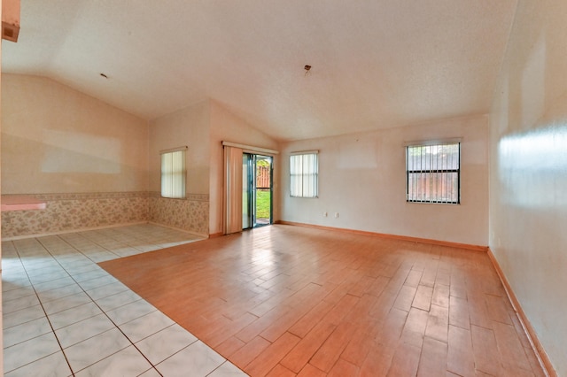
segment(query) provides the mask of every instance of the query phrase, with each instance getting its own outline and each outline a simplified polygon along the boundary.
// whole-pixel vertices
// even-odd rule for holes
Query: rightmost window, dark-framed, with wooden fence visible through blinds
[[[460,155],[460,142],[407,146],[407,201],[459,204]]]

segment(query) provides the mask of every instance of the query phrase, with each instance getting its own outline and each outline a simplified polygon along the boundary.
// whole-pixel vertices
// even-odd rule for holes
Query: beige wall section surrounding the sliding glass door
[[[243,119],[239,119],[221,104],[211,101],[211,140],[210,140],[210,218],[209,233],[218,234],[222,231],[222,142],[237,142],[254,147],[278,150],[278,143],[264,134],[260,129],[252,127]],[[274,204],[278,202],[278,182],[276,177],[278,157],[275,158]],[[278,218],[275,208],[275,218]]]

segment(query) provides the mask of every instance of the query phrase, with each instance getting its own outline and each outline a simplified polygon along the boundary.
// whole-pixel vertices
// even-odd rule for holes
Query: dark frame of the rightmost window
[[[427,141],[427,142],[408,142],[405,145],[405,152],[406,152],[406,202],[407,203],[416,203],[416,204],[448,204],[448,205],[459,205],[461,204],[461,160],[462,160],[462,147],[461,147],[462,141],[461,139],[450,139],[450,140],[436,140],[436,141]],[[457,167],[451,167],[451,168],[437,168],[437,169],[432,169],[431,165],[432,164],[432,160],[430,160],[430,168],[426,168],[426,169],[416,169],[414,168],[413,170],[410,170],[409,168],[409,152],[411,148],[436,148],[436,147],[443,147],[443,146],[456,146],[457,150],[456,150],[456,154],[457,154]],[[423,159],[424,156],[421,156],[420,158]],[[410,175],[411,174],[428,174],[430,177],[433,176],[434,174],[454,174],[456,173],[456,182],[455,183],[451,183],[451,188],[454,188],[454,186],[456,185],[456,200],[443,200],[440,197],[431,197],[429,199],[427,198],[419,198],[416,196],[413,196],[410,198]],[[430,178],[431,182],[433,181]],[[450,181],[447,180],[447,184]],[[443,183],[441,183],[443,184]],[[433,183],[430,183],[430,188],[432,187]],[[431,189],[432,191],[432,189]],[[418,193],[417,193],[418,194]]]

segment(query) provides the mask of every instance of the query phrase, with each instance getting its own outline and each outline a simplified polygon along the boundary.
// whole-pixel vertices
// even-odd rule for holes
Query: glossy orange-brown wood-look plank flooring
[[[541,376],[483,252],[291,226],[100,264],[252,376]]]

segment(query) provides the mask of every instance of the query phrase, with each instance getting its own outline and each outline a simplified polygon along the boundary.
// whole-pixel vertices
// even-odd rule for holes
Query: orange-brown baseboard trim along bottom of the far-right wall
[[[538,338],[538,335],[536,334],[534,328],[532,327],[532,324],[526,317],[524,309],[522,309],[522,305],[518,301],[514,290],[510,286],[508,279],[506,279],[506,275],[502,271],[498,260],[493,254],[493,250],[490,250],[490,248],[488,248],[487,254],[488,258],[490,258],[490,261],[494,266],[494,269],[496,270],[496,273],[498,273],[498,277],[500,278],[502,285],[504,286],[506,296],[508,296],[512,307],[514,308],[514,312],[516,312],[517,319],[520,321],[520,324],[524,328],[524,333],[527,336],[528,341],[530,341],[532,350],[534,351],[536,357],[538,358],[538,361],[540,362],[543,373],[545,373],[547,377],[557,377],[557,373],[555,373],[555,369],[551,364],[551,360],[549,360],[548,358],[546,350],[544,350],[543,345]]]

